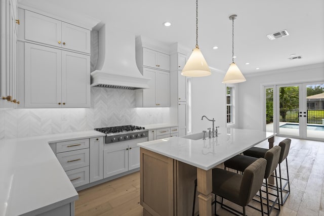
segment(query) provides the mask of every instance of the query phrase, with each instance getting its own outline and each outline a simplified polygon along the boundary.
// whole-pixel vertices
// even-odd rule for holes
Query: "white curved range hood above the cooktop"
[[[148,81],[136,65],[135,35],[104,24],[98,33],[99,52],[91,86],[115,89],[148,89]]]

